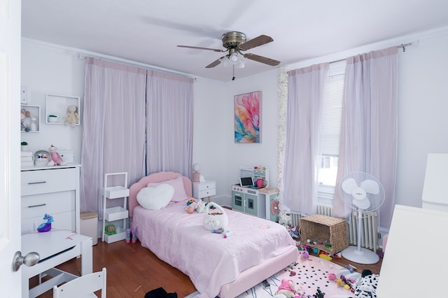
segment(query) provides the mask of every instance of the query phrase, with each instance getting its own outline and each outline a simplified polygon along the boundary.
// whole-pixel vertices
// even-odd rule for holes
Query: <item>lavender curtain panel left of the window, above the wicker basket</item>
[[[288,72],[283,204],[316,213],[319,123],[328,63]]]

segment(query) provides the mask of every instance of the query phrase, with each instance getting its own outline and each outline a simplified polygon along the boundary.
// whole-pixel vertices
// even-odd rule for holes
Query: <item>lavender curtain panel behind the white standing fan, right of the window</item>
[[[391,223],[397,155],[397,47],[347,59],[336,185],[353,171],[370,173],[384,187],[381,225]],[[335,192],[335,215],[349,211]]]

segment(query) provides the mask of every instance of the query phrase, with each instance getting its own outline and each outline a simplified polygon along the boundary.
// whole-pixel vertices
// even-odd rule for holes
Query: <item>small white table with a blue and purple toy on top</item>
[[[37,264],[22,265],[22,297],[37,297],[63,281],[78,278],[74,274],[55,269],[73,257],[81,257],[81,275],[92,273],[92,237],[65,230],[22,235],[22,255],[35,251],[40,255]],[[29,289],[29,278],[39,275],[39,285]],[[43,276],[52,276],[42,282]]]

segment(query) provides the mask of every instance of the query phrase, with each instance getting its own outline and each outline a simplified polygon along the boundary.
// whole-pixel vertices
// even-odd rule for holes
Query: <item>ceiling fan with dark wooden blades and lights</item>
[[[223,41],[223,47],[225,50],[214,49],[214,48],[201,48],[201,47],[193,47],[190,45],[178,45],[179,48],[193,48],[198,50],[213,50],[214,52],[228,52],[227,55],[216,59],[211,64],[205,66],[206,69],[211,69],[215,67],[221,62],[223,63],[232,63],[237,65],[237,67],[244,67],[244,58],[251,59],[256,62],[261,62],[267,65],[276,66],[279,65],[280,62],[271,58],[262,57],[259,55],[251,54],[251,53],[243,53],[246,50],[250,50],[251,48],[258,47],[260,45],[264,45],[266,43],[270,43],[274,41],[272,37],[267,35],[260,35],[251,39],[250,41],[246,41],[246,34],[238,32],[238,31],[230,31],[221,37]]]

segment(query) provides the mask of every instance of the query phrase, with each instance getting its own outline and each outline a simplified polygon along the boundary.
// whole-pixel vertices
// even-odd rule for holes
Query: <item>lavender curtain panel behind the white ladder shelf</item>
[[[102,210],[104,173],[127,171],[129,183],[144,176],[145,95],[145,69],[87,57],[81,212]]]

